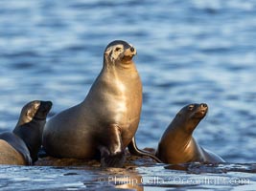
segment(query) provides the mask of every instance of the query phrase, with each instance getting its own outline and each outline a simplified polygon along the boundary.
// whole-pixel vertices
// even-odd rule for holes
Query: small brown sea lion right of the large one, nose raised
[[[199,146],[192,136],[207,111],[205,103],[183,107],[160,139],[155,156],[171,164],[192,161],[224,162],[221,157]]]

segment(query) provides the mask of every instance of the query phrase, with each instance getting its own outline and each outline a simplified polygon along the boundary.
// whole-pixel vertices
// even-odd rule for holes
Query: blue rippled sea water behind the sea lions
[[[198,142],[254,162],[255,31],[253,0],[1,1],[0,130],[32,99],[52,100],[52,115],[79,103],[105,46],[123,39],[137,49],[144,87],[139,147],[155,147],[181,107],[206,102]]]

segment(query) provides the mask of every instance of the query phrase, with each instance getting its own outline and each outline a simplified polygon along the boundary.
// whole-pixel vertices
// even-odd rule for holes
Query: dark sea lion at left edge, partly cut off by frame
[[[0,134],[0,164],[31,165],[37,160],[51,101],[32,101],[21,110],[11,132]]]

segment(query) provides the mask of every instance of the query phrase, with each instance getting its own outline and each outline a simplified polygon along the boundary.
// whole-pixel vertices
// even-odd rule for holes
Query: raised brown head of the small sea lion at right
[[[192,133],[207,112],[208,106],[206,103],[186,105],[176,114],[175,123],[182,124],[177,126],[184,126],[186,130]]]

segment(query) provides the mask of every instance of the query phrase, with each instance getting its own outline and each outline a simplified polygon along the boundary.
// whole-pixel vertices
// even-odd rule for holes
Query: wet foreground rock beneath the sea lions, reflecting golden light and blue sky
[[[155,163],[127,154],[123,168],[101,168],[97,160],[46,157],[35,166],[1,166],[0,189],[167,190],[244,189],[256,186],[256,164]]]

